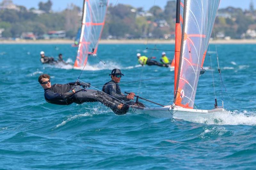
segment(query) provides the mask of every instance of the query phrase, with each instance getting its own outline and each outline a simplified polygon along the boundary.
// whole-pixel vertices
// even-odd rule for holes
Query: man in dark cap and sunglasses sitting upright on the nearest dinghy
[[[127,103],[127,104],[124,104],[123,106],[124,108],[128,109],[129,105],[137,105],[137,106],[139,105],[140,107],[144,107],[144,105],[140,102],[136,104],[135,102],[130,101],[134,99],[134,96],[135,96],[134,92],[131,92],[128,95],[124,95],[121,92],[121,88],[118,85],[118,83],[120,82],[121,77],[124,76],[124,74],[122,74],[120,69],[113,69],[111,71],[111,74],[109,74],[109,76],[111,76],[111,80],[103,85],[102,92],[105,92],[108,95],[114,97],[115,99],[118,99]]]

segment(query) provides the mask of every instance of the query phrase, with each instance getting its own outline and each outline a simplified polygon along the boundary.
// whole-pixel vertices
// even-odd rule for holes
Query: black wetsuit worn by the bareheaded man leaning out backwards
[[[74,94],[72,91],[74,86],[75,83],[64,85],[54,84],[51,88],[44,89],[44,98],[47,102],[57,105],[70,105],[71,103],[82,104],[84,102],[99,101],[105,106],[110,107],[116,114],[125,114],[128,111],[128,108],[122,108],[121,110],[117,109],[117,106],[121,103],[100,91],[85,90],[80,87],[81,91]]]

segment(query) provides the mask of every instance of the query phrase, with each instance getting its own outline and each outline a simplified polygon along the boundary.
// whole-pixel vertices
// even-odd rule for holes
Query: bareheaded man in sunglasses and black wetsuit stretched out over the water
[[[68,83],[51,85],[50,76],[42,74],[38,78],[38,82],[44,88],[44,98],[47,102],[57,105],[70,105],[71,103],[82,104],[84,102],[99,101],[107,107],[110,107],[115,113],[127,112],[122,108],[123,105],[112,97],[96,90],[85,90],[90,87],[90,83]]]

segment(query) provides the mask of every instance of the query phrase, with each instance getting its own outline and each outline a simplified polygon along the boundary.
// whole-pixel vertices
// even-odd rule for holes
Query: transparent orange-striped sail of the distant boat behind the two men
[[[84,0],[80,41],[74,67],[83,67],[88,55],[96,54],[100,39],[108,0]]]

